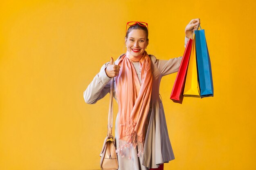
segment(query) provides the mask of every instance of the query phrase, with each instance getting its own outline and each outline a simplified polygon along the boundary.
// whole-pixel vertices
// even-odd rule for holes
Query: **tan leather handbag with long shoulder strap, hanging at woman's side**
[[[117,170],[118,159],[117,159],[117,148],[115,146],[115,137],[112,136],[112,127],[113,127],[113,85],[114,78],[111,80],[110,85],[110,102],[108,110],[108,134],[104,140],[101,154],[101,169],[102,170]],[[112,139],[112,140],[109,140]]]

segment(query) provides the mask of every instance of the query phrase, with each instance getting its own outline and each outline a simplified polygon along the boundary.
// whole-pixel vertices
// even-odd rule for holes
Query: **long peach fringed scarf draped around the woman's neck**
[[[132,64],[136,57],[126,53],[119,60],[121,67],[116,77],[116,92],[119,106],[119,155],[122,150],[138,146],[138,156],[143,153],[145,142],[145,125],[149,111],[152,92],[151,60],[145,51],[139,60],[141,68],[141,84]],[[129,154],[130,158],[130,154]]]

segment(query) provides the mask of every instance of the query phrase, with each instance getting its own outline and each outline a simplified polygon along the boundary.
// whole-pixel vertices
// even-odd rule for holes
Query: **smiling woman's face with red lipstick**
[[[128,38],[125,38],[125,42],[128,52],[134,57],[141,57],[146,46],[148,46],[146,33],[141,29],[133,29],[130,31]]]

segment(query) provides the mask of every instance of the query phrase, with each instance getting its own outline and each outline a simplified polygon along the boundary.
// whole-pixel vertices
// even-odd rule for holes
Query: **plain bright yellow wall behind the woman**
[[[125,52],[126,22],[148,22],[147,51],[167,60],[183,55],[193,18],[214,97],[173,103],[176,73],[162,79],[175,155],[165,169],[256,169],[255,9],[254,0],[1,0],[0,170],[99,169],[109,99],[85,104],[83,91]]]

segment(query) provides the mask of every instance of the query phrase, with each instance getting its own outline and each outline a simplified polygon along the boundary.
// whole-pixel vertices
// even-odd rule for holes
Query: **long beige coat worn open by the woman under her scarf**
[[[118,57],[115,64],[123,56]],[[157,168],[161,163],[167,163],[174,158],[171,142],[168,136],[164,108],[159,97],[159,86],[164,75],[175,73],[180,67],[182,57],[170,60],[157,60],[154,55],[151,59],[151,70],[153,75],[153,87],[148,113],[148,129],[146,134],[144,154],[141,164],[148,168]],[[106,75],[105,68],[109,63],[102,66],[101,71],[94,77],[88,88],[84,91],[83,97],[88,104],[94,104],[103,98],[110,91],[110,78]],[[114,86],[114,97],[115,94]]]

